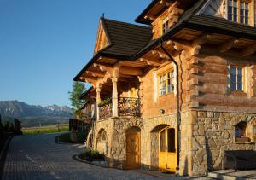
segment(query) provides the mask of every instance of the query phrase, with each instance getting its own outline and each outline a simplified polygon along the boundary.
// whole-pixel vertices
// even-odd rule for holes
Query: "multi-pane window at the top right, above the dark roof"
[[[229,0],[228,20],[232,20],[234,22],[248,25],[249,24],[249,1]]]

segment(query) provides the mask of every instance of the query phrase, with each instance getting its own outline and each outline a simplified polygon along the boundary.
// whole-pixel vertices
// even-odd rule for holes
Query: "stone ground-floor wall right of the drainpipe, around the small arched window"
[[[180,157],[181,165],[187,160],[188,170],[185,172],[190,176],[222,169],[225,150],[256,150],[254,142],[238,143],[235,140],[235,125],[239,122],[247,122],[248,136],[253,140],[252,126],[256,125],[256,114],[210,111],[190,111],[188,114],[188,117],[182,117]],[[187,142],[183,141],[184,134]]]

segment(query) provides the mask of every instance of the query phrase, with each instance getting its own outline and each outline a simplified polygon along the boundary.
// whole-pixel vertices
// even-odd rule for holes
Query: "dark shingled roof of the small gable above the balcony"
[[[152,28],[149,26],[138,26],[105,18],[101,18],[101,21],[109,44],[96,53],[74,80],[79,80],[79,76],[84,73],[84,70],[100,56],[131,60],[131,56],[136,55],[152,38]]]

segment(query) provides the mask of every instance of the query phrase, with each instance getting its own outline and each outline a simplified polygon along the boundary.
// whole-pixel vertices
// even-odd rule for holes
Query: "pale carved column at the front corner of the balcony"
[[[113,113],[113,118],[116,118],[119,116],[119,100],[118,100],[118,90],[117,90],[118,78],[112,78],[112,82],[113,82],[112,113]]]

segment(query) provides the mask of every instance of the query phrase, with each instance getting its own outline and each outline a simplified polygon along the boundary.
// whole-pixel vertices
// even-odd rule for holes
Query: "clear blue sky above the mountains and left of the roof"
[[[92,57],[102,13],[134,23],[150,2],[0,0],[0,101],[70,106],[67,92]]]

